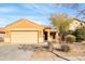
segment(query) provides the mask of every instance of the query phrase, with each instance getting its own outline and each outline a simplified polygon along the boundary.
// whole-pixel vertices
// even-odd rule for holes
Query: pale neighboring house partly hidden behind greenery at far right
[[[80,21],[80,20],[77,20],[77,18],[73,18],[73,20],[72,20],[72,23],[71,23],[70,26],[69,26],[69,29],[70,29],[70,30],[75,30],[75,29],[80,28],[81,25],[82,25],[82,26],[85,26],[85,23],[82,22],[82,21]]]

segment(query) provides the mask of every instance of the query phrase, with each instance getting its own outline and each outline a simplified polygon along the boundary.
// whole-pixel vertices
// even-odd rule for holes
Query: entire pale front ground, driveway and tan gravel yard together
[[[77,61],[85,60],[85,44],[70,44],[69,52],[59,51],[59,43],[53,52],[38,51],[32,48],[27,50],[18,49],[19,44],[0,43],[0,61]],[[58,56],[59,55],[59,56]]]

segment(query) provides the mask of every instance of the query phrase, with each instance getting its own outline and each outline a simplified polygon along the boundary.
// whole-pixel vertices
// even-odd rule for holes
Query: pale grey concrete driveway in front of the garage
[[[0,61],[28,61],[33,51],[19,50],[19,44],[1,43]]]

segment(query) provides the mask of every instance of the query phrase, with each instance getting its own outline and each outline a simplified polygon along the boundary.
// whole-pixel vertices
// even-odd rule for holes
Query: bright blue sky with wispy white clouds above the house
[[[85,8],[85,4],[81,4],[80,9],[83,8]],[[52,3],[0,3],[0,27],[4,27],[20,18],[32,20],[43,25],[51,25],[48,18],[52,14],[68,13],[71,16],[75,16],[76,11],[69,8],[56,7]]]

